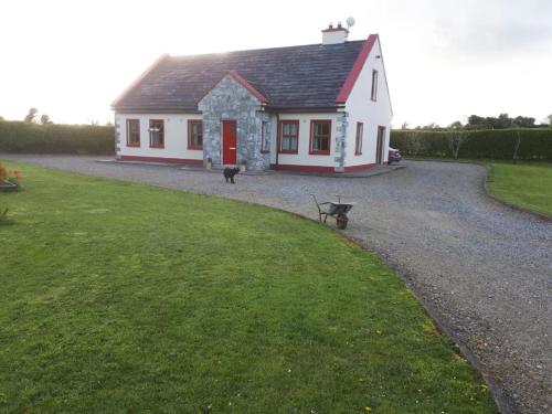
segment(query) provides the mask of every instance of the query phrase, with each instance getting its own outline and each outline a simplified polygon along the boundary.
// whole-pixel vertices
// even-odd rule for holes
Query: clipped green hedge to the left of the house
[[[0,152],[114,155],[115,128],[0,120]]]

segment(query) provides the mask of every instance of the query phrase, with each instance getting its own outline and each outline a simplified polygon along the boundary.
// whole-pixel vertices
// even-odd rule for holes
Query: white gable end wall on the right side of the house
[[[392,113],[388,86],[385,84],[383,59],[378,59],[376,56],[382,56],[379,40],[373,45],[346,103],[346,112],[349,114],[346,167],[375,163],[378,126],[385,127],[383,161],[388,161]],[[371,99],[373,70],[378,71],[378,99],[375,102]],[[361,156],[354,155],[357,123],[364,124]]]

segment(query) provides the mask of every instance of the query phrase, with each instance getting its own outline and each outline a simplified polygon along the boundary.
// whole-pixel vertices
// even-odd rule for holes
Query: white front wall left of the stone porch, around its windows
[[[203,150],[188,149],[188,120],[201,118],[200,114],[115,114],[120,131],[119,155],[202,160]],[[140,120],[140,147],[127,147],[127,119]],[[150,119],[164,120],[164,148],[149,147]]]

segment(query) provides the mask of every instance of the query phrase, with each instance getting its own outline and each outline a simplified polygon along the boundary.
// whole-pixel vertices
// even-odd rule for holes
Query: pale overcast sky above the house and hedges
[[[2,0],[0,116],[105,124],[162,53],[321,42],[329,22],[379,33],[393,125],[552,114],[551,0]]]

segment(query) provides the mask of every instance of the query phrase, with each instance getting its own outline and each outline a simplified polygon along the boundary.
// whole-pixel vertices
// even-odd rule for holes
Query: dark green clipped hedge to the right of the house
[[[520,160],[552,160],[552,128],[466,130],[458,158],[513,159],[518,132]],[[453,158],[449,131],[392,130],[391,147],[403,157]]]

